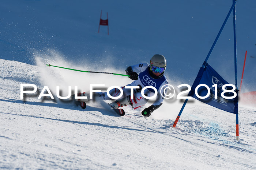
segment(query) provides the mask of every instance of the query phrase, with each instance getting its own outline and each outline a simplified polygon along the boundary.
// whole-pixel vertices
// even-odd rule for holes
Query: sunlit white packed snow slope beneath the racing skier
[[[149,118],[129,109],[120,117],[104,102],[83,110],[37,97],[45,83],[51,89],[71,79],[83,88],[93,77],[41,62],[0,59],[1,169],[256,169],[256,108],[239,107],[240,141],[234,114],[194,100],[177,129],[171,125],[182,102],[165,101]],[[116,82],[113,75],[99,78]],[[20,84],[35,84],[38,93],[24,101]]]

